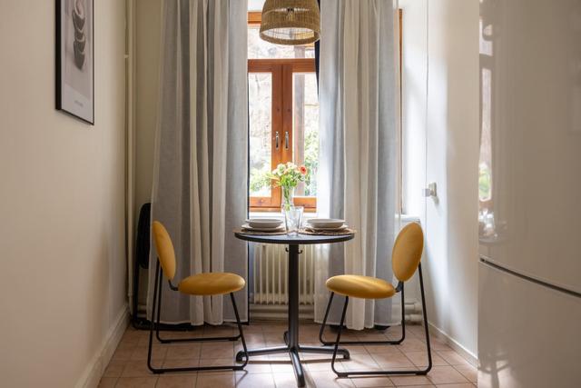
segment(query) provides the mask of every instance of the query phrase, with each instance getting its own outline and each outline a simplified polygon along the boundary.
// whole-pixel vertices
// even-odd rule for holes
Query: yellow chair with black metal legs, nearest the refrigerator
[[[424,249],[424,234],[422,233],[419,224],[411,223],[406,225],[398,234],[393,251],[391,254],[391,266],[393,274],[398,279],[398,285],[394,287],[388,282],[369,276],[359,276],[352,274],[342,274],[333,276],[327,280],[327,288],[330,290],[329,304],[325,312],[325,318],[320,326],[319,339],[325,345],[334,345],[333,358],[331,360],[331,368],[339,377],[347,377],[350,375],[385,375],[385,374],[427,374],[432,368],[432,354],[429,346],[428,333],[428,315],[426,312],[426,298],[424,294],[424,279],[421,274],[421,254]],[[428,367],[423,370],[401,370],[401,371],[347,371],[338,372],[335,369],[335,359],[337,357],[337,349],[340,345],[367,345],[367,344],[399,344],[406,338],[406,323],[404,312],[404,283],[409,281],[413,274],[418,270],[419,273],[419,287],[421,291],[421,307],[424,318],[424,328],[426,331],[426,347],[428,351]],[[343,305],[343,313],[341,314],[341,321],[337,333],[337,338],[333,342],[325,341],[323,332],[327,324],[327,318],[330,311],[330,303],[333,301],[333,295],[339,293],[345,296],[345,304]],[[394,341],[340,341],[341,330],[343,323],[345,323],[345,314],[347,313],[347,304],[349,298],[363,298],[363,299],[384,299],[390,298],[396,293],[401,294],[401,338]]]

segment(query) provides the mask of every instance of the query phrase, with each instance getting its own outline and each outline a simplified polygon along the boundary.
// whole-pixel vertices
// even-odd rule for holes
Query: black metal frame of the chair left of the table
[[[159,258],[157,260],[157,265],[155,268],[155,284],[153,286],[153,306],[152,306],[152,319],[149,331],[149,349],[147,351],[147,367],[153,373],[166,373],[166,372],[186,372],[186,371],[220,371],[220,370],[232,370],[241,371],[244,369],[248,363],[248,349],[246,347],[246,341],[244,340],[244,333],[242,333],[242,324],[240,322],[240,315],[238,313],[238,307],[236,306],[236,300],[234,299],[234,293],[230,293],[230,299],[232,307],[234,309],[234,315],[236,316],[236,324],[238,325],[238,335],[235,336],[225,336],[225,337],[196,337],[196,338],[176,338],[167,339],[160,336],[160,317],[162,311],[162,280],[163,280],[163,270],[160,267]],[[170,288],[173,291],[179,291],[178,287],[172,284],[171,280],[168,280]],[[155,317],[155,321],[153,320]],[[155,326],[155,337],[160,343],[191,343],[191,342],[212,342],[212,341],[238,341],[241,340],[242,348],[244,349],[243,354],[245,355],[245,360],[241,364],[234,365],[217,365],[217,366],[191,366],[191,367],[181,367],[181,368],[155,368],[152,365],[152,350],[153,350],[153,326]]]

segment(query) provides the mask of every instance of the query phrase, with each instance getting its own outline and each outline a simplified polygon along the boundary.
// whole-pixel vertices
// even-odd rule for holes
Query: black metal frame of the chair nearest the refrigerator
[[[325,326],[327,324],[327,318],[329,317],[330,312],[330,303],[333,301],[333,295],[335,293],[330,293],[329,303],[327,304],[327,310],[325,312],[325,318],[323,319],[323,323],[320,325],[320,332],[319,332],[319,340],[320,343],[325,345],[334,345],[334,352],[333,357],[331,359],[331,369],[338,377],[348,377],[350,375],[390,375],[390,374],[416,374],[416,375],[425,375],[432,369],[432,353],[431,347],[429,343],[429,332],[428,332],[428,313],[426,309],[426,296],[424,293],[424,279],[421,273],[421,264],[418,265],[418,273],[419,273],[419,289],[421,292],[421,308],[422,308],[422,315],[424,320],[424,329],[426,331],[426,349],[428,351],[428,367],[426,369],[419,369],[419,370],[401,370],[401,371],[347,371],[347,372],[340,372],[335,369],[335,359],[337,358],[337,349],[339,349],[340,345],[369,345],[369,344],[387,344],[387,345],[398,345],[402,343],[406,338],[406,320],[405,320],[405,300],[404,300],[404,282],[399,281],[398,287],[396,288],[396,293],[401,293],[401,338],[398,340],[387,340],[387,341],[340,341],[341,338],[341,331],[343,330],[343,324],[345,323],[345,315],[347,314],[347,305],[349,304],[349,296],[345,296],[345,303],[343,305],[343,312],[341,313],[341,320],[339,324],[339,329],[337,332],[337,338],[335,341],[325,341],[323,338],[323,331],[325,330]]]

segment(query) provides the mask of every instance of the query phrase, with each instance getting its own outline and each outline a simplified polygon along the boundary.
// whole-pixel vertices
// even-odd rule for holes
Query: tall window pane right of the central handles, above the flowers
[[[317,196],[317,167],[319,165],[319,96],[314,73],[295,73],[292,80],[293,159],[305,164],[310,171],[297,195]]]

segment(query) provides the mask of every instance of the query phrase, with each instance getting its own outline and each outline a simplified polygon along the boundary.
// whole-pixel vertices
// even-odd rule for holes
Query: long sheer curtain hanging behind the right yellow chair
[[[320,216],[344,218],[356,238],[326,248],[318,263],[315,319],[328,302],[325,280],[362,274],[393,281],[397,217],[399,50],[397,2],[321,0]],[[336,298],[335,300],[341,300]],[[342,302],[330,323],[339,323]],[[400,323],[399,298],[351,299],[350,328]]]

